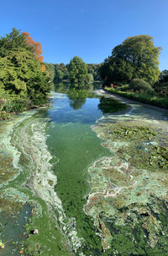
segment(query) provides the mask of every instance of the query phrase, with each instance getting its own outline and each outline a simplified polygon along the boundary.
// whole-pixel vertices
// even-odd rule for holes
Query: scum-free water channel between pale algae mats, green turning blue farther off
[[[66,216],[76,219],[77,235],[85,239],[85,249],[79,250],[98,255],[101,243],[95,234],[96,228],[82,208],[86,204],[85,196],[90,192],[87,169],[97,158],[110,152],[102,147],[101,140],[91,129],[91,125],[102,116],[97,109],[99,99],[87,99],[78,110],[71,108],[70,103],[66,95],[55,95],[53,108],[48,112],[50,125],[47,134],[50,137],[47,144],[50,153],[59,159],[54,167],[58,177],[55,190]]]

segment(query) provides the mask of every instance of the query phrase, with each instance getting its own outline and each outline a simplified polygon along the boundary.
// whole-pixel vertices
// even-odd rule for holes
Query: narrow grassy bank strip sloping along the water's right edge
[[[142,94],[134,93],[134,92],[119,91],[119,90],[115,90],[113,88],[108,88],[108,87],[105,87],[104,90],[108,91],[108,93],[121,95],[125,98],[131,99],[134,101],[139,101],[141,103],[146,103],[148,105],[159,106],[161,108],[168,109],[168,99],[167,98],[159,97],[156,95],[142,95]]]

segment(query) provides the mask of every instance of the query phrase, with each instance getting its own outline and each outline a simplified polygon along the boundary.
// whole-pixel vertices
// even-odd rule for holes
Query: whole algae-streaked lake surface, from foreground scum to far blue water
[[[167,255],[166,111],[55,91],[0,124],[0,255]]]

